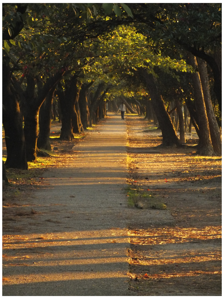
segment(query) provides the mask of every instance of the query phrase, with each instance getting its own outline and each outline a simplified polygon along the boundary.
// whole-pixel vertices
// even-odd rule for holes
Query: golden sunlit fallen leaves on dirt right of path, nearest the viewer
[[[129,233],[131,244],[137,244],[138,248],[141,248],[138,252],[131,251],[130,264],[140,267],[139,269],[148,269],[147,273],[130,273],[133,279],[150,281],[221,275],[221,250],[214,248],[210,242],[212,239],[220,242],[220,225],[203,228],[152,227],[146,230],[130,230]]]

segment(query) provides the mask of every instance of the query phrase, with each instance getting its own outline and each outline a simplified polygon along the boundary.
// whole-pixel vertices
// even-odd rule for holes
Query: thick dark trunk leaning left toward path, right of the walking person
[[[179,146],[180,143],[177,137],[177,133],[174,129],[171,118],[166,111],[162,96],[158,90],[156,78],[152,74],[148,74],[146,69],[140,69],[140,74],[149,91],[152,106],[157,116],[159,127],[162,131],[162,145],[171,146],[176,144],[177,146]]]

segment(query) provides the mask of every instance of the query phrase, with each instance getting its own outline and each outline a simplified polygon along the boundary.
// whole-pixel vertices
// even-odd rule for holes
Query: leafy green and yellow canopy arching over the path
[[[78,95],[84,87],[86,96],[92,94],[86,105],[95,121],[103,101],[120,95],[141,101],[155,91],[167,101],[170,94],[194,100],[189,76],[195,70],[188,63],[192,54],[207,62],[210,89],[221,110],[221,4],[4,3],[2,37],[7,65],[3,71],[8,78],[3,105],[9,107],[13,93],[12,101],[18,101],[24,113],[25,135],[27,115],[32,113],[38,132],[40,106],[49,93],[54,94],[57,84],[58,94],[64,92],[61,101],[67,101],[68,90],[75,93],[66,105],[74,110],[78,132],[82,127]],[[148,74],[159,88],[153,91],[140,73]],[[162,80],[172,82],[173,88]],[[219,110],[215,108],[217,115]],[[67,128],[74,129],[72,118]],[[36,151],[36,145],[30,143],[30,147]]]

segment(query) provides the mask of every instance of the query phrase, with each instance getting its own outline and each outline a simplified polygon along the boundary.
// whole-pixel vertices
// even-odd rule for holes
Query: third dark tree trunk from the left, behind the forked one
[[[54,89],[51,89],[44,103],[41,105],[39,113],[39,136],[37,139],[37,147],[47,151],[51,151],[50,127],[53,97]]]

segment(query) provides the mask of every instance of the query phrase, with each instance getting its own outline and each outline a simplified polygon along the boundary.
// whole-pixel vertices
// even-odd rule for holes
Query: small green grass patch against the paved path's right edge
[[[127,187],[128,205],[136,208],[151,208],[165,210],[167,207],[158,196],[152,196],[143,189]]]

